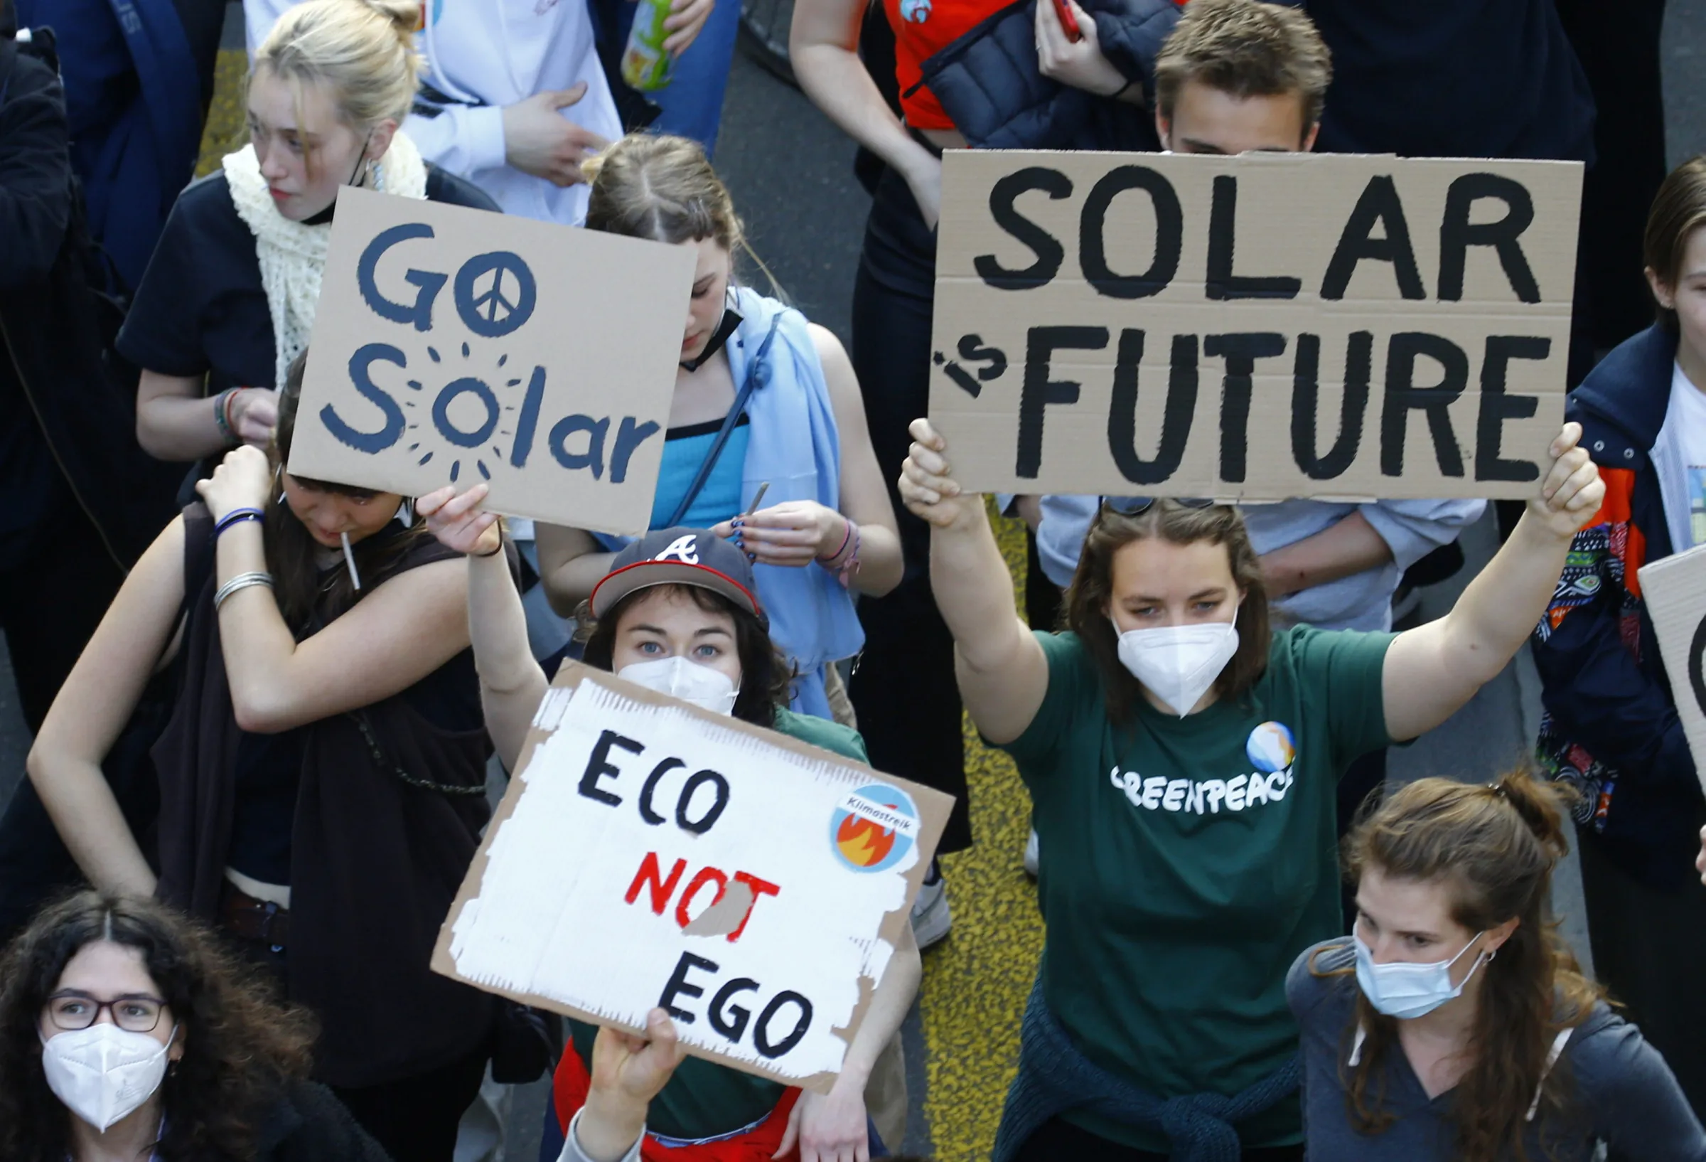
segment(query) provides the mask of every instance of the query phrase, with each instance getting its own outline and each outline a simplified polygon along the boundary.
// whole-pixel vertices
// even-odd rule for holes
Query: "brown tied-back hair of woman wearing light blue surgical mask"
[[[1382,877],[1442,884],[1450,915],[1469,932],[1488,932],[1510,920],[1517,928],[1500,945],[1498,959],[1481,967],[1481,1003],[1471,1034],[1474,1063],[1457,1085],[1452,1121],[1455,1159],[1498,1162],[1522,1157],[1529,1107],[1546,1135],[1570,1133],[1575,1114],[1566,1101],[1564,1070],[1551,1066],[1558,1032],[1581,1024],[1599,991],[1558,938],[1547,913],[1552,869],[1568,850],[1564,788],[1527,771],[1476,787],[1448,778],[1423,778],[1365,816],[1344,840],[1346,875],[1356,882],[1375,869]],[[1392,1116],[1370,1078],[1397,1046],[1397,1022],[1356,1000],[1367,1034],[1361,1060],[1344,1080],[1351,1124],[1380,1133]]]

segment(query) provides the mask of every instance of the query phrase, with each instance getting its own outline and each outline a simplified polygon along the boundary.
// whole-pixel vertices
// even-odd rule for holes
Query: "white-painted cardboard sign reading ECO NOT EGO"
[[[827,1092],[952,802],[566,664],[432,966]]]

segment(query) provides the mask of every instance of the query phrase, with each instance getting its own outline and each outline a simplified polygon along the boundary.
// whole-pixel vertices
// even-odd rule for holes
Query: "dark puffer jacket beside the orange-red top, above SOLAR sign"
[[[1049,0],[1042,0],[1049,2]],[[1150,109],[1044,77],[1037,0],[1015,0],[923,63],[923,84],[972,148],[1157,150]],[[1102,55],[1153,106],[1155,55],[1179,22],[1174,0],[1080,0]]]

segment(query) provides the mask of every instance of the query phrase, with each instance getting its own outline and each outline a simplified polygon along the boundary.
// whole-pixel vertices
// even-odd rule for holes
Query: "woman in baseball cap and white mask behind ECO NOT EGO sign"
[[[479,671],[486,730],[515,770],[546,676],[527,648],[527,619],[510,578],[498,519],[481,512],[486,485],[462,495],[440,488],[416,502],[426,526],[467,555],[467,628]],[[865,761],[858,732],[788,710],[792,667],[769,638],[746,553],[705,529],[647,532],[611,561],[585,604],[592,631],[585,662],[619,677],[812,746]],[[804,1157],[855,1159],[870,1150],[865,1084],[901,1029],[923,966],[911,927],[841,1073],[827,1095],[785,1089],[699,1058],[686,1060],[652,1102],[648,1150],[711,1138],[751,1136],[775,1153],[795,1143]],[[597,1029],[570,1022],[573,1044],[556,1077],[556,1128],[566,1131],[585,1099]]]

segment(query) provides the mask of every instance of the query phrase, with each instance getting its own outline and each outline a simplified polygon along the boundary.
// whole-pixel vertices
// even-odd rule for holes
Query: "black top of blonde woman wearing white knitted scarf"
[[[479,186],[426,167],[426,200],[493,210]],[[136,287],[118,350],[160,375],[206,375],[206,394],[276,387],[273,317],[261,287],[254,234],[237,215],[225,172],[191,183],[165,220]]]

